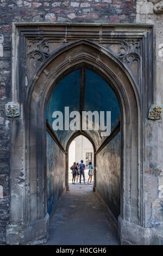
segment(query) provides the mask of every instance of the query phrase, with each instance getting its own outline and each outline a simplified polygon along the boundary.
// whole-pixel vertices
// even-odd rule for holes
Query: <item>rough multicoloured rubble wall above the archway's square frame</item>
[[[133,22],[135,0],[1,0],[2,24],[13,21]]]

